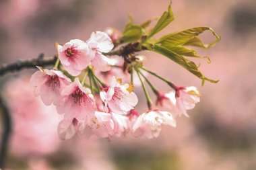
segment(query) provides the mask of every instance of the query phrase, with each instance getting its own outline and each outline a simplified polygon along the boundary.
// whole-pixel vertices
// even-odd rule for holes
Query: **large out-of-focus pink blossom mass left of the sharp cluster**
[[[16,77],[3,91],[13,119],[11,152],[19,157],[30,157],[56,151],[60,118],[55,106],[46,106],[40,98],[34,97],[29,77]]]

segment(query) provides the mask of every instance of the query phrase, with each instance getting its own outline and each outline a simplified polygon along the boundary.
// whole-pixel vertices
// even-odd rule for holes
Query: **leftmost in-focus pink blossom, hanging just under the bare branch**
[[[61,91],[71,82],[61,71],[55,69],[43,69],[38,67],[30,79],[30,85],[34,87],[34,95],[40,95],[45,105],[57,104]]]

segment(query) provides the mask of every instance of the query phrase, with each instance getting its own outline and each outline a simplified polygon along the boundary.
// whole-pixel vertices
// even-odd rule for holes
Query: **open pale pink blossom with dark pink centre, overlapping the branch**
[[[77,76],[94,58],[88,44],[82,40],[70,40],[64,46],[58,45],[59,60],[64,69],[71,75]]]

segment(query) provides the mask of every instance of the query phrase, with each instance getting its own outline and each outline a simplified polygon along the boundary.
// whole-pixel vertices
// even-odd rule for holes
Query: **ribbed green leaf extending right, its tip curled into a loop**
[[[203,44],[203,42],[198,38],[198,35],[203,33],[204,31],[209,30],[214,34],[216,40],[211,42],[210,44]],[[163,36],[158,40],[158,43],[162,46],[200,46],[203,48],[209,48],[210,46],[214,46],[218,41],[220,41],[220,36],[214,32],[212,28],[209,27],[197,27],[191,28],[188,30],[184,30],[182,32],[176,32],[172,34],[168,34]]]

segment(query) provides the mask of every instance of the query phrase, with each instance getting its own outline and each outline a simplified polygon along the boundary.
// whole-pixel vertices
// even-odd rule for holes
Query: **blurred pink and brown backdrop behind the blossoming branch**
[[[0,63],[56,53],[55,42],[79,38],[111,26],[123,30],[130,12],[135,23],[162,15],[169,0],[1,0]],[[256,169],[256,1],[173,0],[174,21],[158,35],[210,26],[222,36],[213,48],[198,49],[212,63],[201,71],[218,84],[201,80],[152,52],[146,67],[177,83],[194,85],[201,102],[181,117],[177,128],[164,127],[158,138],[76,137],[61,141],[55,108],[45,107],[32,94],[29,79],[35,70],[0,77],[1,95],[13,117],[13,135],[7,159],[9,169],[139,169],[139,170],[253,170]],[[205,42],[213,40],[205,33]],[[170,90],[150,79],[162,91]],[[138,110],[146,110],[142,90]],[[38,109],[40,108],[40,109]],[[2,132],[1,132],[2,134]]]

